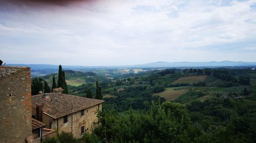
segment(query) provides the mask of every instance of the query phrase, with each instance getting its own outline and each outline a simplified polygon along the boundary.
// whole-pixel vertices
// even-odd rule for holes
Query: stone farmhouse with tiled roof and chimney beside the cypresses
[[[78,138],[88,131],[92,132],[97,122],[97,111],[101,110],[103,100],[63,94],[61,88],[52,93],[32,96],[32,117],[46,124],[46,128],[59,133],[72,132]]]

